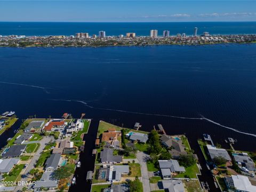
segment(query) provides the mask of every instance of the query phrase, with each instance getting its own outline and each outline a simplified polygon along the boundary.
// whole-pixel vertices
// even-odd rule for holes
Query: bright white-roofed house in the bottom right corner
[[[243,175],[231,175],[225,177],[225,183],[229,191],[235,192],[255,192],[256,186],[253,186],[248,177]]]

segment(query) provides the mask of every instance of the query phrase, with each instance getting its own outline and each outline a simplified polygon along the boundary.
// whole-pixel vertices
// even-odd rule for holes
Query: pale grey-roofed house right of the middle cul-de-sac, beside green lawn
[[[158,160],[163,179],[171,179],[172,174],[185,172],[185,167],[180,166],[175,159]]]

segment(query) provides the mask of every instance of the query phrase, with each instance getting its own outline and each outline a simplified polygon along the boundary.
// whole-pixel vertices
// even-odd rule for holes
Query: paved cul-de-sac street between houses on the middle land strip
[[[149,155],[143,153],[143,152],[138,152],[137,153],[137,158],[141,167],[141,177],[142,177],[142,184],[143,184],[143,191],[148,192],[150,190],[150,185],[149,185],[149,178],[148,178],[148,167],[147,167],[147,159],[149,158]]]

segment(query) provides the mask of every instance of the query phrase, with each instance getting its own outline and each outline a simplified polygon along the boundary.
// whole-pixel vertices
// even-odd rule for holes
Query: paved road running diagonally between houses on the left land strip
[[[31,169],[35,168],[36,161],[38,160],[40,154],[42,153],[42,151],[45,147],[45,144],[49,143],[50,141],[54,141],[54,138],[52,136],[44,137],[41,141],[39,141],[40,146],[39,146],[38,150],[36,151],[35,155],[33,156],[33,158],[31,159],[29,165],[27,166],[27,169],[25,170],[25,172],[23,172],[23,174],[27,175]],[[27,179],[28,179],[27,177],[21,178],[20,181],[26,182]],[[15,188],[14,192],[21,190],[23,187],[27,187],[27,186],[17,186]]]

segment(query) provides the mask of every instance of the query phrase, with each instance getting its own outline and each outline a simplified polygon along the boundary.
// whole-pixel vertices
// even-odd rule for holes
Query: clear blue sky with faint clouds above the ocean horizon
[[[256,1],[0,1],[0,21],[256,21]]]

